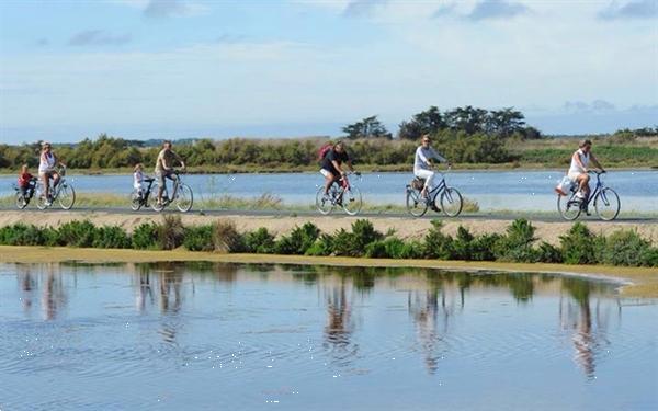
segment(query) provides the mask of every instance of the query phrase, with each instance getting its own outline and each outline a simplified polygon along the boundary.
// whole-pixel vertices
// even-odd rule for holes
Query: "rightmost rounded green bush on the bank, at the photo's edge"
[[[637,231],[621,230],[611,233],[598,244],[598,262],[611,265],[656,265],[656,250]]]

